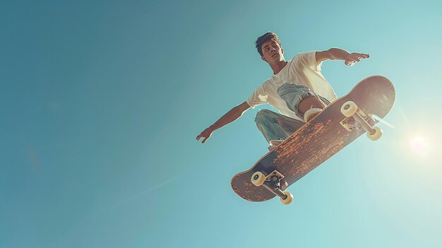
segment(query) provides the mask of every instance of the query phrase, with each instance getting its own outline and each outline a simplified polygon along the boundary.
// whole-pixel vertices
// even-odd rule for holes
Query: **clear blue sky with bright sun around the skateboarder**
[[[0,247],[441,247],[438,1],[13,1],[0,8]],[[338,96],[395,85],[362,136],[250,203],[230,179],[266,153],[253,122],[195,140],[271,76],[253,42],[325,61]],[[390,128],[389,126],[394,126]],[[278,237],[281,240],[276,240]]]

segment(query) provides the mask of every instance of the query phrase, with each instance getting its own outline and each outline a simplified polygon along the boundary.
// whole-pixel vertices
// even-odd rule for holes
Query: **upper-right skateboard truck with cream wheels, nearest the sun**
[[[356,127],[355,124],[360,124],[372,141],[381,138],[382,130],[378,126],[373,126],[374,120],[369,117],[369,114],[362,112],[356,103],[352,101],[345,102],[341,107],[341,113],[345,115],[345,119],[340,123],[347,131],[352,131]],[[359,127],[356,128],[360,129]]]

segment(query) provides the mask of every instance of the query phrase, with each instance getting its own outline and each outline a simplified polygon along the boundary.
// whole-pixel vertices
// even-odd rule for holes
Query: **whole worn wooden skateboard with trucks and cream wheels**
[[[393,84],[383,76],[370,76],[347,95],[335,100],[306,122],[250,170],[230,182],[235,193],[248,201],[267,201],[279,196],[289,204],[285,191],[325,160],[366,133],[376,141],[382,130],[374,126],[390,112],[395,102]]]

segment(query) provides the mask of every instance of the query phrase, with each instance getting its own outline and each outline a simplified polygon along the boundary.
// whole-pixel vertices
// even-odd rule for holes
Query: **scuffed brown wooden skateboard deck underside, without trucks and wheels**
[[[328,105],[275,150],[258,160],[250,170],[235,175],[231,181],[232,189],[248,201],[272,199],[275,194],[251,183],[254,172],[261,171],[267,175],[277,170],[285,176],[282,181],[293,184],[364,134],[364,129],[347,131],[340,124],[345,119],[340,108],[347,101],[355,102],[366,114],[383,118],[393,107],[395,89],[383,76],[365,78],[350,93]]]

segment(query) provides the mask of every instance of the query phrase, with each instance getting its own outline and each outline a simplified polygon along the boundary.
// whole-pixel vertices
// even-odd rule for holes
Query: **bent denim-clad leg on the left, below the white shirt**
[[[270,146],[277,145],[277,143],[280,143],[278,141],[284,141],[285,138],[304,125],[304,122],[270,110],[258,112],[255,122]]]

